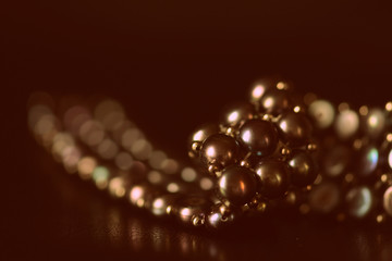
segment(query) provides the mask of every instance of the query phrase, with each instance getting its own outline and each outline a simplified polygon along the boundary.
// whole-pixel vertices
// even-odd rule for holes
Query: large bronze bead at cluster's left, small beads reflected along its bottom
[[[201,145],[200,158],[206,165],[224,167],[235,163],[240,154],[236,140],[223,134],[208,137]]]

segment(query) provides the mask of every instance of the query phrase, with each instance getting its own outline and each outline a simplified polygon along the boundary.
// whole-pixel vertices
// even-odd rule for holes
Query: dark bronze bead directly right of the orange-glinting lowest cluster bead
[[[261,194],[268,198],[282,196],[289,187],[290,171],[282,161],[262,161],[255,167],[261,179]]]

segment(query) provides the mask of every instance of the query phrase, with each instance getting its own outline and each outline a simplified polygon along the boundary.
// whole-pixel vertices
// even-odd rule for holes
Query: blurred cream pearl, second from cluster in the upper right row
[[[353,110],[342,111],[334,125],[338,136],[342,139],[352,137],[359,128],[359,116]]]

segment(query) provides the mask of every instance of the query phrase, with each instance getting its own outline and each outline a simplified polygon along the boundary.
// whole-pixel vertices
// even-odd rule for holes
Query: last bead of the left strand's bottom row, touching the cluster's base
[[[181,197],[172,208],[172,214],[186,225],[198,225],[207,213],[211,202],[205,196],[192,195]],[[196,224],[195,224],[196,223]]]

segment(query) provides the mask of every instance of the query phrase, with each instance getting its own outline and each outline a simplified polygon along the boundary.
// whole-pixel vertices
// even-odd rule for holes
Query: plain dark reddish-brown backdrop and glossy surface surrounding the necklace
[[[108,95],[161,148],[184,154],[191,130],[246,99],[260,76],[280,74],[336,103],[382,105],[392,98],[387,3],[42,0],[8,3],[0,16],[2,260],[392,259],[390,227],[274,216],[212,235],[128,210],[65,175],[25,117],[33,90]]]

